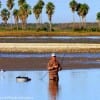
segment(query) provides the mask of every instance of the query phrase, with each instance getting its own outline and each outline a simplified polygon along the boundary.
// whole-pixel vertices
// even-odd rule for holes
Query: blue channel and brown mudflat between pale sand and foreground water
[[[57,53],[64,69],[100,68],[100,53]],[[46,70],[51,53],[0,53],[0,69]]]

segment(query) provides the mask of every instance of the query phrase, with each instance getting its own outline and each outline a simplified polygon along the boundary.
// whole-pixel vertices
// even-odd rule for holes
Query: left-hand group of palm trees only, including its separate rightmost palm
[[[3,8],[1,10],[1,17],[4,22],[4,24],[7,24],[7,21],[11,17],[11,23],[12,23],[12,17],[14,16],[15,24],[18,29],[18,23],[19,20],[21,21],[22,24],[22,29],[26,28],[27,24],[27,19],[28,16],[31,15],[32,13],[35,15],[35,18],[37,20],[37,26],[40,24],[40,17],[42,14],[43,7],[45,5],[43,0],[38,0],[36,5],[31,7],[26,0],[18,0],[18,9],[14,9],[15,3],[14,0],[7,0],[6,6],[7,8]],[[2,3],[0,2],[0,8],[2,6]],[[52,15],[55,10],[55,5],[52,2],[48,2],[46,4],[46,14],[48,15],[48,20],[49,20],[49,25],[50,25],[50,31],[52,30]],[[12,24],[11,24],[12,28]]]

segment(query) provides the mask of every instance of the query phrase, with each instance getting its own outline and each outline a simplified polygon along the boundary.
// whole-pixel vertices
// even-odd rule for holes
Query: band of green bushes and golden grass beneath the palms
[[[40,24],[39,30],[36,29],[36,24],[27,24],[26,29],[22,30],[22,25],[13,24],[11,29],[10,24],[0,25],[0,36],[100,36],[100,29],[98,23],[86,23],[85,29],[80,29],[80,23],[75,23],[75,29],[72,30],[73,23],[67,24],[52,24],[53,31],[49,31],[49,23]]]

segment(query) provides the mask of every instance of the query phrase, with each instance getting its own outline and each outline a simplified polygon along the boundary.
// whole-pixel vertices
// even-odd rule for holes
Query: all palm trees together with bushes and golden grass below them
[[[0,36],[15,35],[15,36],[29,36],[29,35],[71,35],[71,36],[86,36],[86,35],[100,35],[100,12],[97,12],[98,23],[86,23],[86,16],[89,13],[88,4],[78,3],[75,0],[69,2],[69,7],[73,13],[73,23],[58,23],[53,24],[52,17],[55,10],[53,2],[45,2],[38,0],[33,7],[27,3],[27,0],[18,0],[18,8],[15,0],[7,0],[6,8],[2,8],[0,2],[1,18],[3,23],[0,24]],[[14,9],[13,9],[14,8]],[[48,16],[48,22],[42,23],[42,11],[45,8]],[[36,23],[27,23],[28,17],[33,14],[37,20]],[[75,14],[78,14],[80,23],[75,21]],[[8,24],[8,20],[14,18],[15,23]],[[20,22],[20,23],[19,23]]]

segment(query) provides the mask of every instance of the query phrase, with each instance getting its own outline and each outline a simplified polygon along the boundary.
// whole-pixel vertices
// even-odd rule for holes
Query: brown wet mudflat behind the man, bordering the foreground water
[[[63,69],[100,68],[99,58],[58,58]],[[47,70],[48,58],[0,58],[0,69]]]

